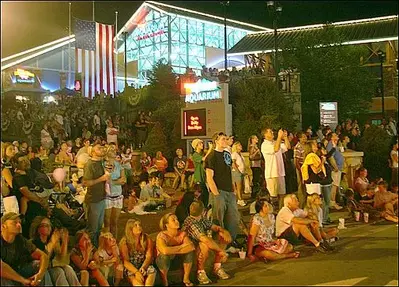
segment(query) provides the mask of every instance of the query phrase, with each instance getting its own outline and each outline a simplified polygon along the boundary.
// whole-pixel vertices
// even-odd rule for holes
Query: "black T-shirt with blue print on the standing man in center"
[[[205,169],[212,169],[213,180],[218,189],[233,192],[233,184],[231,178],[231,154],[228,151],[219,152],[213,150],[205,160]]]

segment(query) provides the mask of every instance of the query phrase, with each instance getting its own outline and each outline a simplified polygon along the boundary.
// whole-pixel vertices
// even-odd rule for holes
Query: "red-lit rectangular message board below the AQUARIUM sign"
[[[183,112],[183,134],[186,137],[206,136],[206,109]]]

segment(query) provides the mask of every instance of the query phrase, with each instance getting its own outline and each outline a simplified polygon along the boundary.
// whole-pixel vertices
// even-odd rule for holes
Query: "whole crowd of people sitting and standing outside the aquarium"
[[[18,117],[25,119],[26,114],[18,111]],[[342,205],[351,213],[398,222],[396,123],[390,119],[382,126],[395,139],[390,184],[369,180],[362,167],[353,189],[342,193],[342,153],[356,150],[360,136],[358,124],[348,120],[335,132],[320,127],[314,133],[309,127],[294,135],[265,128],[260,147],[256,135],[248,140],[250,167],[243,144],[233,136],[216,133],[209,146],[193,140],[190,157],[176,150],[172,187],[194,192],[187,191],[175,212],[162,217],[156,240],[140,220],[129,219],[118,242],[122,212],[145,214],[171,207],[171,196],[163,189],[168,159],[162,151],[153,158],[142,152],[139,161],[133,159],[132,145],[119,140],[118,116],[95,112],[91,126],[100,126],[104,134],[91,133],[83,124],[82,137],[65,128],[67,115],[56,111],[53,117],[52,126],[41,130],[39,147],[27,141],[2,142],[4,286],[117,286],[123,280],[152,286],[157,276],[168,286],[175,257],[182,263],[185,286],[193,285],[194,265],[197,281],[209,284],[205,262],[211,251],[212,272],[221,280],[230,278],[222,265],[228,253],[244,249],[251,261],[297,258],[295,246],[305,240],[317,252],[330,253],[338,229],[331,227],[329,213]],[[138,125],[150,123],[146,113],[138,118]],[[48,162],[52,168],[46,174]],[[248,204],[246,192],[254,199],[248,228],[239,211]],[[70,251],[69,236],[74,237]],[[62,263],[64,257],[69,264]]]

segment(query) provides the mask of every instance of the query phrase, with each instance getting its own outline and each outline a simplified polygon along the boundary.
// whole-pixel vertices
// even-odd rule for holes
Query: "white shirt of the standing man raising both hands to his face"
[[[283,152],[287,151],[284,143],[280,144],[280,149],[274,151],[275,141],[264,140],[261,151],[265,159],[265,178],[285,176]]]

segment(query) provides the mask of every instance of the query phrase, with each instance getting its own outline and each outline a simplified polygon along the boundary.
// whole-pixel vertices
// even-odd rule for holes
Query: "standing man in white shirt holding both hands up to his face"
[[[283,153],[290,147],[287,131],[280,129],[277,140],[274,140],[273,130],[269,127],[262,130],[265,140],[262,143],[261,151],[265,158],[265,179],[266,187],[269,190],[272,202],[279,201],[279,209],[283,207],[285,190],[285,169]],[[282,142],[284,140],[284,143]]]

